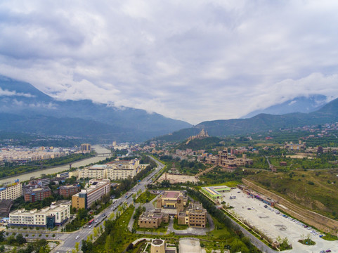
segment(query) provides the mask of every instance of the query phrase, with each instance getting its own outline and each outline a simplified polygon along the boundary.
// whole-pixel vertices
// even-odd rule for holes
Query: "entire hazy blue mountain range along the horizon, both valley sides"
[[[201,129],[206,129],[210,136],[227,136],[338,122],[338,99],[330,103],[326,100],[321,95],[299,97],[267,108],[265,111],[271,114],[220,119],[192,126],[135,108],[117,108],[91,100],[56,100],[32,84],[0,76],[0,131],[77,136],[93,143],[145,141],[155,136],[167,141],[181,141]],[[293,108],[292,113],[273,115],[290,108]]]

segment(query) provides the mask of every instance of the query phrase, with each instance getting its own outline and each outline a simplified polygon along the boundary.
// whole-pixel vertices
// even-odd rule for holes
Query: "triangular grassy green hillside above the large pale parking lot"
[[[338,169],[293,170],[273,174],[262,171],[246,179],[332,219],[338,220]]]

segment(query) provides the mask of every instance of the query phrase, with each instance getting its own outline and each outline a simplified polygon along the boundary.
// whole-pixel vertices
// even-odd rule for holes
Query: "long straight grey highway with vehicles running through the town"
[[[164,164],[158,162],[152,157],[150,158],[156,162],[157,168],[154,171],[152,171],[148,176],[146,176],[141,182],[137,183],[136,186],[134,186],[134,188],[131,188],[131,190],[129,190],[124,195],[122,195],[115,203],[113,203],[108,208],[103,210],[103,212],[101,212],[100,214],[96,215],[94,217],[94,220],[98,221],[97,223],[100,224],[99,226],[103,226],[103,221],[106,219],[107,216],[110,216],[112,212],[114,212],[115,217],[116,217],[116,214],[118,212],[118,207],[122,205],[122,203],[125,202],[126,206],[129,207],[129,205],[133,202],[133,198],[131,196],[134,193],[137,194],[139,190],[141,190],[141,192],[143,193],[146,189],[146,186],[149,183],[152,183],[152,178],[155,176],[155,174],[157,174],[158,171],[163,169]],[[105,214],[105,216],[103,216],[103,214]],[[80,248],[81,248],[82,240],[86,240],[86,238],[91,233],[93,233],[93,228],[97,223],[94,222],[91,228],[89,228],[89,226],[86,226],[86,228],[81,228],[79,231],[75,231],[73,233],[58,233],[58,238],[59,240],[63,241],[63,243],[62,245],[60,245],[60,247],[53,249],[53,251],[51,252],[54,252],[54,253],[56,252],[66,253],[67,251],[72,252],[72,249],[74,249],[75,247],[75,242],[79,242]],[[79,238],[76,239],[78,235],[79,235]]]

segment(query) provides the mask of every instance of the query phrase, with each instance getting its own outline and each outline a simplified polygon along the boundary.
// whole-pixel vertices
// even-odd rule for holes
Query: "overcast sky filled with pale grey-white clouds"
[[[0,1],[0,74],[191,124],[338,97],[338,1]]]

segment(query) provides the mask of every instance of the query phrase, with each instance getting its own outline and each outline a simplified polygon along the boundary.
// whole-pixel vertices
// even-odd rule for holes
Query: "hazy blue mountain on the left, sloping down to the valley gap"
[[[190,127],[181,120],[91,100],[60,101],[32,84],[0,76],[0,131],[68,135],[106,141],[145,141]]]

